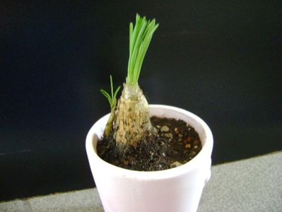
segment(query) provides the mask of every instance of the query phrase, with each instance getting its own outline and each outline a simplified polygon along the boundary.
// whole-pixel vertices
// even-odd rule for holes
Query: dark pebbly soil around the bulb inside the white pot
[[[114,139],[98,141],[97,151],[102,160],[129,170],[156,171],[180,166],[201,151],[199,134],[182,120],[151,117],[158,135],[126,152],[119,152]],[[112,136],[110,136],[112,137]]]

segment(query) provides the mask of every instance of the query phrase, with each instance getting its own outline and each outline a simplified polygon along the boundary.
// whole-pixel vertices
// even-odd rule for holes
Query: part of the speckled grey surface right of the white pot
[[[282,151],[217,165],[198,212],[281,212]]]

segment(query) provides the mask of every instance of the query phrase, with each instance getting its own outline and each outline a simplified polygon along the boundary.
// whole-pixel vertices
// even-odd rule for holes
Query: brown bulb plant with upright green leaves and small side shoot
[[[156,134],[156,130],[150,122],[148,102],[138,81],[143,59],[157,28],[158,23],[155,23],[155,19],[146,20],[145,16],[142,18],[136,14],[135,25],[133,23],[129,25],[127,79],[117,105],[114,98],[119,89],[112,94],[111,98],[110,95],[102,91],[109,99],[112,110],[104,134],[105,136],[112,134],[121,151],[126,151],[129,146],[137,146],[150,134]]]

